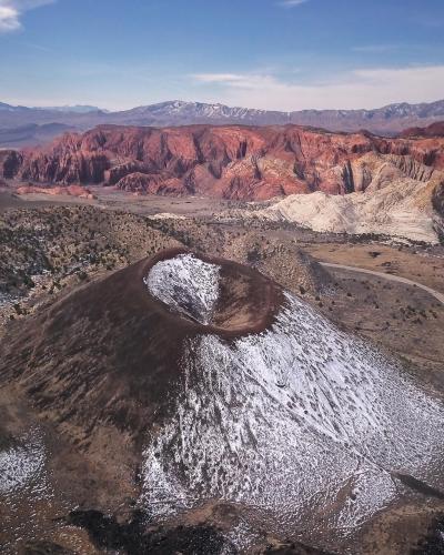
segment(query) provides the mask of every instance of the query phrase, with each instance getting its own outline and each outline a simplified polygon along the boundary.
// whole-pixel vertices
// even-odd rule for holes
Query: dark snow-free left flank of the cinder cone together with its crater
[[[204,274],[195,284],[200,268],[210,269],[214,283]],[[151,284],[154,294],[152,274],[160,278],[158,289]],[[204,322],[202,295],[209,287],[214,296]],[[17,380],[34,406],[75,442],[89,444],[107,425],[140,445],[178,393],[184,342],[260,333],[282,302],[279,285],[251,268],[168,250],[88,283],[20,326],[12,324],[0,346],[0,374]]]

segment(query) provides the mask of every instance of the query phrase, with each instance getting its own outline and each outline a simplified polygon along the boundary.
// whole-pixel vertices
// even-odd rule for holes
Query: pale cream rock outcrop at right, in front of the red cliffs
[[[444,238],[444,172],[408,157],[370,153],[352,164],[365,181],[362,191],[332,195],[292,194],[222,219],[292,222],[319,232],[374,233],[438,243]]]

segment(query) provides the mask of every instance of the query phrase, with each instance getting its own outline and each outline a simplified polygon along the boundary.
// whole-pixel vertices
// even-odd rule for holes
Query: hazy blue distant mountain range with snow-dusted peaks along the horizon
[[[330,131],[369,130],[394,135],[407,128],[444,120],[444,100],[431,103],[389,104],[374,110],[302,110],[279,112],[180,100],[109,112],[97,107],[28,108],[0,102],[0,147],[34,145],[63,130],[87,131],[103,123],[175,127],[190,124],[285,125],[300,124]],[[53,125],[51,134],[48,124]],[[56,125],[54,125],[56,124]],[[28,125],[38,125],[23,133]],[[39,128],[47,125],[43,130]],[[18,129],[22,131],[18,132]],[[44,138],[42,137],[44,135]]]

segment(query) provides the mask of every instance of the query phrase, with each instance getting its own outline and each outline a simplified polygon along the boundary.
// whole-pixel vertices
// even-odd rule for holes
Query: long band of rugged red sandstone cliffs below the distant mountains
[[[36,182],[261,200],[317,190],[364,190],[371,181],[369,157],[396,159],[396,165],[416,179],[412,172],[420,167],[444,168],[444,139],[383,139],[296,125],[102,125],[23,153],[14,174]]]

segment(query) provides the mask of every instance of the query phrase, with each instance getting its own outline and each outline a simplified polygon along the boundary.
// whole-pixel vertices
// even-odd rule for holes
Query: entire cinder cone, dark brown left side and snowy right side
[[[164,251],[13,323],[0,350],[2,380],[115,496],[131,484],[158,522],[233,504],[238,547],[266,528],[342,548],[412,484],[444,487],[442,403],[234,262]]]

